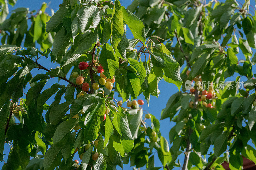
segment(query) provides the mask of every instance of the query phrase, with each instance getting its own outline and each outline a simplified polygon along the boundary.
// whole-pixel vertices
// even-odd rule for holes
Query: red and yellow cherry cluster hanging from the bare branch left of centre
[[[85,61],[80,62],[79,65],[78,65],[78,68],[79,68],[80,70],[85,70],[87,67],[88,67],[88,63],[85,62]],[[100,73],[100,77],[101,77],[100,80],[99,80],[100,84],[101,84],[101,85],[105,85],[105,87],[106,87],[107,89],[111,90],[111,89],[113,88],[113,83],[115,82],[115,77],[114,77],[112,80],[111,80],[111,79],[108,79],[108,78],[103,74],[104,69],[103,69],[103,67],[102,67],[101,65],[99,65],[99,67],[97,67],[97,71],[98,71],[98,73]],[[86,91],[88,91],[88,90],[90,89],[89,83],[88,83],[88,82],[84,82],[84,77],[83,77],[82,75],[79,75],[77,72],[73,72],[73,73],[71,74],[71,77],[74,78],[74,79],[76,79],[76,84],[78,84],[78,85],[81,85],[81,84],[82,84],[82,90],[83,90],[83,91],[86,92]],[[92,84],[92,88],[93,88],[94,90],[98,90],[98,89],[100,88],[100,86],[99,86],[98,83],[93,83],[93,84]],[[82,95],[82,94],[80,94],[80,96],[81,96],[81,95]]]

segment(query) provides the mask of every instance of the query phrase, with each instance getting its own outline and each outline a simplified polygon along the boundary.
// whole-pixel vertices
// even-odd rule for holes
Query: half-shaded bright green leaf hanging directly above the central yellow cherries
[[[108,43],[102,47],[100,63],[104,69],[104,75],[112,80],[116,69],[119,67],[119,60],[116,57],[112,46]]]

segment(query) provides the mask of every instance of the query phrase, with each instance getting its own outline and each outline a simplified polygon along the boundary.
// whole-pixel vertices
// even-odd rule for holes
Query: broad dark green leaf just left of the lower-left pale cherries
[[[66,120],[62,122],[54,132],[54,135],[52,137],[52,141],[54,145],[58,146],[64,146],[67,141],[67,136],[72,129],[76,126],[78,123],[77,118],[71,118],[69,120]]]

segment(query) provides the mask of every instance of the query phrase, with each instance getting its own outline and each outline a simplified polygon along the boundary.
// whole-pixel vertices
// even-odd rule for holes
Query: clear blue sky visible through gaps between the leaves
[[[120,1],[121,1],[121,4],[124,7],[127,7],[132,2],[130,0],[120,0]],[[43,2],[46,2],[47,4],[49,4],[50,1],[49,0],[44,0],[44,1],[43,0],[18,0],[17,4],[14,7],[10,7],[9,10],[11,11],[12,9],[15,9],[15,8],[18,8],[18,7],[27,7],[27,8],[29,8],[30,11],[38,10],[38,9],[40,9],[41,4]],[[244,3],[244,1],[240,1],[240,2],[242,4]],[[54,11],[57,11],[58,8],[59,8],[59,4],[61,4],[61,3],[62,3],[62,0],[52,0],[51,3],[49,4],[49,8],[46,10],[46,12],[51,14],[51,10],[50,9],[53,9]],[[252,5],[254,6],[255,2]],[[127,30],[126,36],[127,36],[128,39],[129,38],[133,38],[132,33],[129,30]],[[244,57],[241,54],[238,56],[238,59],[243,59],[243,58]],[[54,67],[58,66],[56,64],[54,65],[53,63],[50,63],[50,59],[45,59],[43,57],[40,58],[39,63],[41,65],[43,65],[44,67],[47,67],[48,69],[54,68]],[[39,73],[42,73],[42,71],[37,70],[37,69],[32,71],[32,75],[33,76],[35,76],[36,74],[39,74]],[[254,73],[255,73],[255,68],[254,68]],[[231,77],[231,80],[234,80],[234,79],[235,79],[235,77]],[[48,81],[48,83],[46,84],[44,89],[49,88],[51,86],[51,84],[53,84],[53,83],[58,83],[58,80],[55,79],[55,78],[52,78],[51,80]],[[60,84],[65,84],[65,85],[67,84],[65,81],[62,81],[62,80],[59,83]],[[161,80],[159,82],[158,89],[160,90],[160,96],[158,98],[155,97],[155,96],[151,96],[150,97],[149,108],[148,108],[148,106],[147,106],[147,104],[145,102],[145,104],[143,105],[143,110],[148,110],[156,118],[160,119],[161,110],[165,108],[166,103],[167,103],[169,97],[172,96],[172,94],[176,93],[178,91],[178,88],[175,85],[173,85],[173,84],[170,84],[170,83],[165,82],[164,80]],[[28,89],[25,89],[24,92],[26,92],[27,90]],[[118,98],[117,95],[115,96],[115,98],[117,99],[117,101],[121,100],[121,98]],[[142,100],[145,101],[145,98],[144,98],[143,95],[140,95],[137,99],[142,99]],[[50,103],[52,103],[52,101],[53,101],[53,98],[50,98],[50,100],[47,103],[50,104]],[[64,102],[64,99],[62,99],[62,101],[60,103],[62,103],[62,102]],[[147,122],[147,123],[150,124],[150,121]],[[161,134],[168,141],[169,141],[169,131],[170,131],[170,129],[173,126],[174,126],[174,123],[171,123],[169,121],[169,119],[165,119],[165,120],[161,120],[160,121],[160,131],[161,131]],[[9,145],[5,145],[4,153],[8,154],[9,153],[9,149],[10,149],[10,146]],[[4,156],[4,161],[7,161],[7,156],[8,155]],[[183,162],[182,157],[180,157],[180,158],[181,158],[180,161],[182,163]],[[79,159],[77,153],[76,153],[74,159]],[[3,163],[4,162],[1,162],[0,166],[3,166]],[[155,156],[155,166],[162,166],[162,164],[159,161],[157,155]],[[121,168],[118,167],[118,169],[121,169]],[[132,169],[132,167],[130,167],[129,165],[124,165],[123,169]],[[179,168],[177,168],[177,169],[179,169]]]

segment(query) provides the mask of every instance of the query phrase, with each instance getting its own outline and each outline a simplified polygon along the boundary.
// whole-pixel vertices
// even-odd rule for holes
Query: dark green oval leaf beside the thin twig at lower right
[[[228,144],[228,132],[222,133],[218,138],[215,139],[214,141],[214,155],[216,157],[219,157],[221,153],[226,151],[227,149],[227,144]]]

